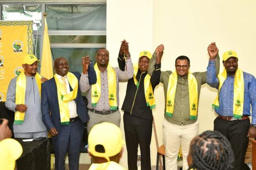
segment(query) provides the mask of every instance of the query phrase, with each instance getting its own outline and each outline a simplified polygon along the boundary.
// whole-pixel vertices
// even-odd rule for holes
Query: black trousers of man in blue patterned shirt
[[[234,153],[234,168],[236,170],[250,169],[244,163],[249,138],[247,137],[250,128],[250,120],[228,121],[217,117],[214,120],[214,130],[221,132],[231,143]]]

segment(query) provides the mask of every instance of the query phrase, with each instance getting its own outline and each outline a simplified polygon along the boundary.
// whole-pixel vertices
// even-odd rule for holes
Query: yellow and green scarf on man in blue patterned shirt
[[[226,78],[227,78],[227,71],[226,69],[224,69],[222,74],[218,75],[220,85],[218,89],[218,95],[214,103],[212,104],[213,108],[216,108],[216,109],[219,108],[220,90]],[[238,68],[238,70],[236,71],[236,74],[234,75],[233,118],[241,119],[243,115],[243,109],[244,109],[244,75],[243,75],[243,71],[240,68]]]

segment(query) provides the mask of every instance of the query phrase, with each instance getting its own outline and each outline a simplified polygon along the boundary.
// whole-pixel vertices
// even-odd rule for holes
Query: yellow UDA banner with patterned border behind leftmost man
[[[0,21],[0,102],[8,85],[23,71],[22,60],[33,54],[33,21]]]

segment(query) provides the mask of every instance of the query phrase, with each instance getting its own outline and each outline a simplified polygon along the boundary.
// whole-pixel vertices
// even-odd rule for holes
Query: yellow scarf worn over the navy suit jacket
[[[61,125],[69,125],[69,101],[76,99],[77,90],[78,90],[78,80],[74,74],[68,72],[66,75],[69,84],[72,87],[72,91],[66,94],[66,89],[62,85],[62,83],[57,78],[57,75],[54,75],[54,79],[57,86],[57,94],[58,94],[58,103],[59,103],[59,114],[60,114],[60,123]]]

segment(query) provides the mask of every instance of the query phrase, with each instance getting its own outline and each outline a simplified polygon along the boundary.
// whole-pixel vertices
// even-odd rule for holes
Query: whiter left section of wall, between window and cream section
[[[118,66],[117,57],[121,41],[129,42],[133,63],[138,62],[139,53],[152,51],[153,45],[153,1],[152,0],[109,0],[106,2],[106,48],[110,52],[110,63]],[[122,107],[127,83],[119,83],[119,110]],[[123,112],[120,128],[123,132]],[[127,151],[124,146],[120,161],[127,168]]]

